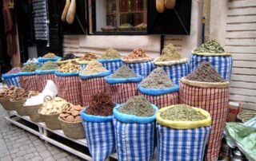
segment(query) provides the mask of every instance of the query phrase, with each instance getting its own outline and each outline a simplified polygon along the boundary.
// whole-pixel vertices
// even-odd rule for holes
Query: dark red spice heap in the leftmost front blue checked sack
[[[90,106],[86,109],[86,114],[94,116],[113,115],[114,103],[106,92],[98,92],[92,96]]]

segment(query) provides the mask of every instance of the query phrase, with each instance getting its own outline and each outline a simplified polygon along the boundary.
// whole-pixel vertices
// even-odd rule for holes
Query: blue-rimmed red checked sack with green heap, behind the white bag
[[[39,69],[35,71],[38,78],[38,91],[42,92],[45,88],[48,80],[54,81],[55,70],[58,69],[58,65],[54,61],[47,61]]]

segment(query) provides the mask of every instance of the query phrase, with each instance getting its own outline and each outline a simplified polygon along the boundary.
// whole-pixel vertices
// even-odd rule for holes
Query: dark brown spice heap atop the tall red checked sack
[[[223,82],[222,77],[217,73],[216,69],[206,61],[198,65],[198,67],[194,69],[194,72],[190,73],[186,79],[202,82]]]

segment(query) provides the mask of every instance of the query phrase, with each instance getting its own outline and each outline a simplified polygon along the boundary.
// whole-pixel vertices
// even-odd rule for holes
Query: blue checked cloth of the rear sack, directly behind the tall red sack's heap
[[[218,57],[218,56],[198,56],[196,54],[192,54],[190,57],[190,73],[194,71],[194,69],[202,63],[202,61],[208,61],[211,65],[215,67],[217,72],[222,76],[223,79],[230,81],[232,66],[233,66],[233,58],[232,57]]]

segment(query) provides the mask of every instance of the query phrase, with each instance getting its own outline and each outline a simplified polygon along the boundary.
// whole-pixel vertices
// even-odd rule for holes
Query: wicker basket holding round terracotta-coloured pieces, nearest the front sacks
[[[59,122],[62,125],[62,130],[64,134],[72,139],[83,139],[85,138],[84,128],[82,126],[82,121],[78,123],[70,123],[62,120],[58,117]]]

